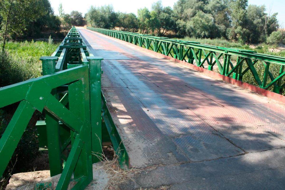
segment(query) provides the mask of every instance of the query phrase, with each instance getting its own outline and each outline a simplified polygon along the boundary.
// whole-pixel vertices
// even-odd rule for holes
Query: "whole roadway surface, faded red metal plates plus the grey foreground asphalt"
[[[83,28],[131,166],[122,189],[285,187],[285,106]]]

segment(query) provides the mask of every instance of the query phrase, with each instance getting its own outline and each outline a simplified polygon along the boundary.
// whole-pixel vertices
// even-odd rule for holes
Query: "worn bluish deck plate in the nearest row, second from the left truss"
[[[191,161],[243,153],[189,109],[149,110],[149,115]]]

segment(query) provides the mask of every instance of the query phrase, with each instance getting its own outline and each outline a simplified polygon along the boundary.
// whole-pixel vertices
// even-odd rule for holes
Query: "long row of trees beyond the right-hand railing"
[[[158,36],[224,38],[240,43],[281,43],[285,33],[278,30],[276,16],[267,14],[264,5],[248,5],[248,0],[178,0],[173,8],[157,1],[151,10],[138,9],[137,16],[115,12],[112,5],[91,6],[85,15],[91,27],[117,27]]]

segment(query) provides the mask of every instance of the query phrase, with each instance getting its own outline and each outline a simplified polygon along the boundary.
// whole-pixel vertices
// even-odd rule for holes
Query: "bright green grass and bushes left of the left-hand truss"
[[[51,55],[57,46],[42,41],[8,42],[0,53],[0,87],[40,76],[39,58]]]

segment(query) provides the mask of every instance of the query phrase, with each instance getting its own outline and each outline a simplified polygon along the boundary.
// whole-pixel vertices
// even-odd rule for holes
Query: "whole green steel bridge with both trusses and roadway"
[[[44,76],[0,89],[0,107],[20,102],[1,175],[38,110],[57,189],[84,189],[107,142],[136,169],[121,189],[284,189],[285,58],[73,27],[41,60]]]

